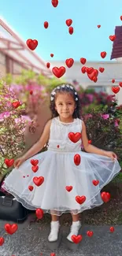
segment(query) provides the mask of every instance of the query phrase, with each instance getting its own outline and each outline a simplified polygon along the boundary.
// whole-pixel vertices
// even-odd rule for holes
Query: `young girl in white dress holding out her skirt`
[[[74,87],[70,84],[56,87],[51,93],[50,109],[52,119],[47,121],[43,135],[15,161],[15,168],[2,187],[29,210],[41,208],[51,214],[50,242],[58,238],[59,216],[71,213],[72,227],[67,239],[72,242],[72,235],[77,236],[81,226],[79,213],[102,205],[102,187],[121,168],[116,154],[88,143]],[[48,150],[37,154],[47,142]],[[81,143],[87,153],[81,151]],[[32,171],[34,155],[39,169]],[[98,180],[97,186],[93,180]]]

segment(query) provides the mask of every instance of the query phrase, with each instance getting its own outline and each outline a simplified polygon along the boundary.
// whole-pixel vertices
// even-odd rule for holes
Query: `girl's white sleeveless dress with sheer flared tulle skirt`
[[[54,117],[50,126],[48,150],[36,154],[6,177],[3,188],[14,195],[17,201],[29,210],[41,208],[44,213],[81,213],[83,210],[102,205],[101,190],[120,172],[117,160],[85,153],[81,151],[82,140],[73,143],[68,138],[69,132],[82,131],[82,121],[74,119],[72,123],[62,123]],[[80,163],[76,165],[74,156],[79,154]],[[31,159],[39,160],[36,173],[31,170]],[[43,176],[44,182],[35,185],[33,178]],[[93,180],[99,180],[94,186]],[[28,186],[33,186],[30,191]],[[67,191],[66,186],[72,186]],[[85,196],[82,204],[76,202],[76,196]]]

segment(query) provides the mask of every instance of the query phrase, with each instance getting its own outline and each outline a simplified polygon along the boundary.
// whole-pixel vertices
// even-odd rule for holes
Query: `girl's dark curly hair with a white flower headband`
[[[61,87],[62,85],[68,85],[69,87],[66,87],[66,86]],[[60,88],[57,88],[57,87],[60,87]],[[76,109],[74,110],[72,117],[80,119],[81,118],[81,104],[80,104],[80,100],[79,100],[79,95],[75,94],[75,92],[77,93],[76,89],[72,86],[71,83],[61,83],[57,87],[54,88],[54,90],[53,90],[56,92],[56,95],[52,95],[53,91],[51,92],[51,95],[50,95],[50,96],[54,97],[53,101],[50,100],[50,110],[52,112],[51,118],[59,116],[59,114],[57,113],[57,110],[55,109],[55,100],[56,100],[58,94],[65,92],[65,93],[69,93],[70,95],[72,95],[72,98],[74,98],[74,101],[76,102]],[[76,98],[78,98],[77,101],[76,101]]]

